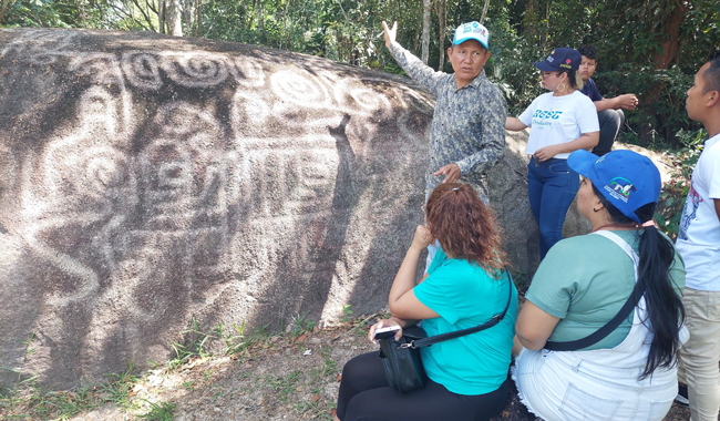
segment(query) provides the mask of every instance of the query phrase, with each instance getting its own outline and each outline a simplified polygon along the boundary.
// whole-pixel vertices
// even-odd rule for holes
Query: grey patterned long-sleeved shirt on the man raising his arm
[[[460,167],[460,182],[473,185],[479,194],[487,197],[486,172],[505,152],[507,105],[500,89],[485,78],[484,70],[457,89],[454,74],[433,71],[399,43],[393,42],[390,52],[405,73],[436,97],[430,129],[426,193],[444,177],[432,174],[443,165],[455,163]]]

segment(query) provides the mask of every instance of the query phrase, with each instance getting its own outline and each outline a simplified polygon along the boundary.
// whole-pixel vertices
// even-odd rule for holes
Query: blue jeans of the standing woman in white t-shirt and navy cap
[[[563,239],[565,215],[579,186],[580,177],[567,166],[567,160],[529,160],[527,197],[541,232],[541,260],[555,243]]]

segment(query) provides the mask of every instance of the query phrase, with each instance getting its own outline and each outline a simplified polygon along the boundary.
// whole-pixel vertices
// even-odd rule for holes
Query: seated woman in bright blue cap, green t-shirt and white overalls
[[[631,151],[567,163],[593,233],[557,243],[533,278],[515,325],[517,390],[545,420],[662,420],[688,333],[685,266],[652,223],[660,173]]]

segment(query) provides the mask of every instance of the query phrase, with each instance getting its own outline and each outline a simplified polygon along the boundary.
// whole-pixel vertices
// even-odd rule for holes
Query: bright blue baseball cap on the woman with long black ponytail
[[[613,151],[597,157],[579,150],[570,154],[567,165],[589,178],[609,203],[638,224],[646,220],[640,220],[635,212],[660,198],[660,171],[649,157],[637,152]]]

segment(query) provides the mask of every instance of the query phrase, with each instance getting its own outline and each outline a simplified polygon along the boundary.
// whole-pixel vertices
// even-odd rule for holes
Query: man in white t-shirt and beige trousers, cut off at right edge
[[[717,421],[720,408],[720,51],[695,75],[688,116],[710,134],[692,172],[677,249],[688,271],[682,304],[690,340],[680,349],[692,421]],[[678,400],[683,394],[680,386]]]

